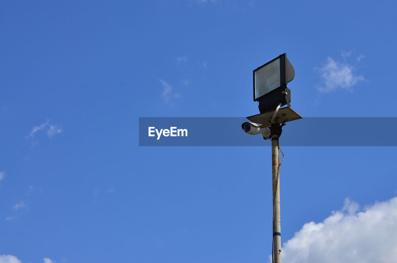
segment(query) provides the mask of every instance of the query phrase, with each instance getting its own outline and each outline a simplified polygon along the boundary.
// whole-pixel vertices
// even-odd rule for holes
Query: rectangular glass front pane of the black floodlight
[[[255,99],[280,85],[280,59],[278,58],[255,72]]]

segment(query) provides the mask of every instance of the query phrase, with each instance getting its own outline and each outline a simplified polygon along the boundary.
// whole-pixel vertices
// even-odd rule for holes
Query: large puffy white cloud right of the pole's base
[[[333,211],[323,222],[304,224],[283,244],[283,261],[396,262],[397,197],[366,206],[360,212],[358,208],[357,203],[346,199],[342,211]]]

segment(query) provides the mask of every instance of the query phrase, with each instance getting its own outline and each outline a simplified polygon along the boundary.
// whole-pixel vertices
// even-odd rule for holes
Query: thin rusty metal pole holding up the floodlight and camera
[[[273,251],[274,263],[281,263],[280,228],[280,179],[279,179],[279,135],[272,135],[272,174],[273,174]]]

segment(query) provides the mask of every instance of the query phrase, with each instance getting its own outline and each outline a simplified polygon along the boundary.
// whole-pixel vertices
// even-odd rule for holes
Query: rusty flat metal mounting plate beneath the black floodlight
[[[247,117],[251,122],[262,124],[260,128],[269,127],[272,125],[270,122],[272,120],[274,114],[274,110],[266,113],[260,113],[253,116]],[[290,107],[280,108],[277,112],[276,118],[274,120],[276,123],[282,123],[284,120],[288,119],[287,122],[292,120],[299,120],[302,116],[297,114],[295,110]]]

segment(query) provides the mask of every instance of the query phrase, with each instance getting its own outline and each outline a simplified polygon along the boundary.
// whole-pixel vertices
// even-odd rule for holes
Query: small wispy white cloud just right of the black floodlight
[[[314,68],[320,73],[323,85],[317,85],[317,90],[322,93],[345,89],[352,91],[352,87],[360,81],[365,81],[362,75],[353,74],[353,66],[347,63],[336,62],[328,57],[327,63],[322,68]]]

